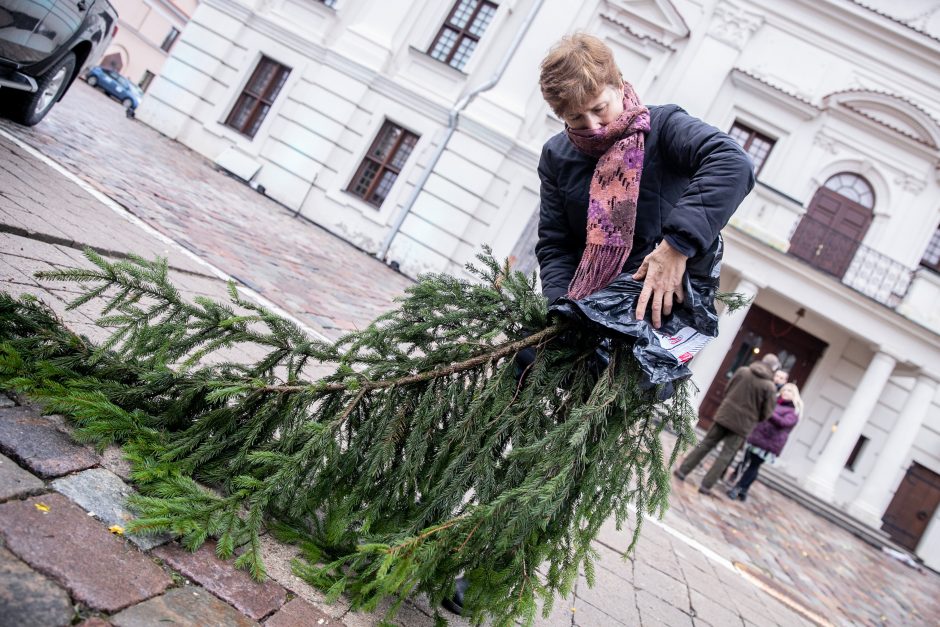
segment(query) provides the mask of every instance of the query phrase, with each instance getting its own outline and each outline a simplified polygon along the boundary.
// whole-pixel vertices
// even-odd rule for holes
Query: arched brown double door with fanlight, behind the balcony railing
[[[829,177],[790,238],[789,253],[841,279],[868,232],[874,206],[875,192],[858,174]]]

